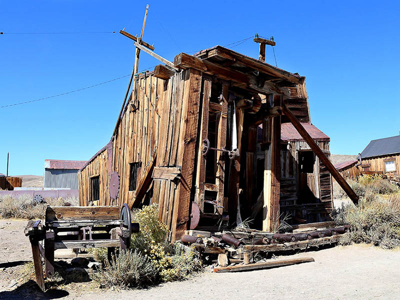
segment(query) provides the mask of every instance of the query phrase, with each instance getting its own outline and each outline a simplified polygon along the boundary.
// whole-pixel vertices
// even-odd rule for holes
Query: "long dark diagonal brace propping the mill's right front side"
[[[286,115],[286,117],[293,124],[294,128],[300,133],[301,137],[307,142],[312,151],[318,156],[319,160],[323,163],[324,166],[328,169],[329,173],[332,174],[333,178],[339,183],[341,188],[345,191],[348,197],[354,202],[354,204],[358,203],[358,196],[354,192],[354,190],[348,185],[347,181],[340,175],[340,173],[336,170],[333,164],[330,162],[329,158],[326,157],[325,153],[318,147],[312,137],[308,134],[308,132],[304,129],[301,123],[297,120],[294,114],[287,108],[286,104],[282,105],[282,112]]]

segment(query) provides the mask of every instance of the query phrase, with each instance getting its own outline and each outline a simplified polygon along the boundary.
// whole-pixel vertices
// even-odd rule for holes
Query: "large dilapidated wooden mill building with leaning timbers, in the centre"
[[[120,31],[135,45],[133,72],[110,141],[79,171],[80,205],[158,203],[176,240],[248,217],[272,231],[283,212],[291,224],[328,220],[329,173],[357,201],[328,158],[327,136],[312,136],[305,77],[265,63],[272,40],[254,38],[258,59],[214,46],[171,62],[143,40],[146,15],[138,37]],[[162,64],[138,73],[140,51]],[[281,140],[283,124],[298,148]],[[312,184],[307,174],[301,181],[314,170]]]

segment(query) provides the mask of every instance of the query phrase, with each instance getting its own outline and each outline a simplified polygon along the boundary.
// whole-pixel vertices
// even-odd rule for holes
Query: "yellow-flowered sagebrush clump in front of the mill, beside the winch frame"
[[[198,272],[202,267],[198,255],[177,244],[169,244],[168,228],[157,215],[156,204],[134,210],[132,219],[139,223],[140,231],[132,234],[131,249],[121,251],[111,262],[105,259],[104,268],[98,270],[93,279],[107,287],[145,287],[183,280]]]

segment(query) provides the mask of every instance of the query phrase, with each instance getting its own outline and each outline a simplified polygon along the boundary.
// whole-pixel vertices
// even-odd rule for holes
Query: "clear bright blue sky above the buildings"
[[[169,60],[179,52],[273,35],[278,66],[306,76],[311,121],[336,154],[357,154],[400,129],[397,1],[0,1],[0,106],[129,74],[132,41]],[[7,34],[98,32],[99,34]],[[233,47],[257,57],[251,39]],[[274,64],[267,48],[267,62]],[[139,69],[158,61],[141,53]],[[151,68],[150,68],[151,69]],[[86,160],[112,133],[128,77],[0,108],[0,172],[43,174],[44,159]]]

